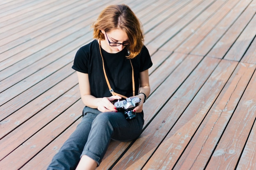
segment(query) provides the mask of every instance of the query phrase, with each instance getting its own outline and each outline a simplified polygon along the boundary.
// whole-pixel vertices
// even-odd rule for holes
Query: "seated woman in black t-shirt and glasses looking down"
[[[77,51],[72,66],[85,104],[83,119],[48,170],[93,170],[111,139],[131,141],[141,134],[143,103],[150,93],[148,68],[152,66],[143,45],[142,26],[122,4],[106,7],[92,27],[95,40]],[[135,119],[126,119],[124,110],[113,104],[126,97],[141,99],[131,110],[136,112]]]

